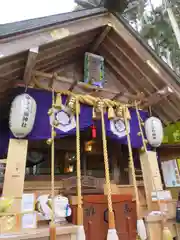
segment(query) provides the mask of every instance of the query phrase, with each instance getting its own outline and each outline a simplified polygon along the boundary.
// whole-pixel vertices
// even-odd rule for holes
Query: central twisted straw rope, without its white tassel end
[[[104,121],[103,101],[101,101],[101,123],[102,123],[102,141],[103,141],[105,178],[106,178],[107,200],[108,200],[108,211],[109,211],[109,228],[115,229],[115,220],[114,220],[114,213],[113,213],[112,199],[111,199],[111,183],[110,183],[110,174],[109,174],[109,162],[108,162],[107,138],[106,138],[106,128],[105,128],[105,121]]]

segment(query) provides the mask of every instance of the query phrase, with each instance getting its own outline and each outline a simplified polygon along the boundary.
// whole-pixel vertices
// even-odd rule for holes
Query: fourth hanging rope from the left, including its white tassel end
[[[129,151],[129,166],[132,168],[132,179],[133,179],[133,186],[134,186],[134,192],[135,192],[135,198],[136,198],[136,212],[137,212],[137,237],[136,237],[136,239],[146,240],[147,239],[146,227],[145,227],[144,221],[140,215],[140,200],[139,200],[138,187],[137,187],[137,181],[136,181],[136,173],[135,173],[135,167],[134,167],[134,161],[133,161],[131,139],[130,139],[130,134],[129,134],[129,125],[128,125],[129,118],[130,118],[129,109],[124,108],[124,122],[125,122],[125,127],[126,127],[126,136],[127,136],[128,151]]]

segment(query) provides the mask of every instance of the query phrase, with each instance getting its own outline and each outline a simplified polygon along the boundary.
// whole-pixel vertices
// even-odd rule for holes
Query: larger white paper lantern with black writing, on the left
[[[26,137],[33,129],[36,101],[29,94],[20,94],[11,104],[9,128],[17,138]]]

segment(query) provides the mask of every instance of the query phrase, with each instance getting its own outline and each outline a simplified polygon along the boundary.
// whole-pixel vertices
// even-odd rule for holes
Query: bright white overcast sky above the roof
[[[71,12],[74,0],[1,0],[0,24]],[[162,0],[151,0],[154,6]]]

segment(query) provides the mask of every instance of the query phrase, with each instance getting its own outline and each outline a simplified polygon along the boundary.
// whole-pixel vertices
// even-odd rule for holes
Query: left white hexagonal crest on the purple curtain
[[[65,107],[61,110],[55,109],[55,120],[59,122],[55,128],[62,132],[69,132],[76,127],[75,117]],[[52,125],[52,116],[50,116],[50,124]]]

